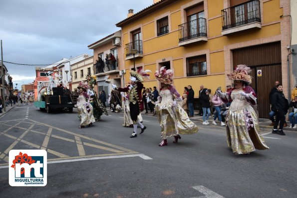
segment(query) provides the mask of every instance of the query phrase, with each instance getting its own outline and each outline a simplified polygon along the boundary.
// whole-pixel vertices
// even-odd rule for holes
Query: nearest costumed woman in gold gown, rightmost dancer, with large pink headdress
[[[234,88],[228,93],[218,91],[224,103],[231,102],[226,117],[228,146],[235,154],[250,154],[255,149],[269,149],[260,134],[259,119],[252,105],[257,103],[256,94],[252,87],[251,69],[246,65],[238,65],[228,74],[234,80]]]

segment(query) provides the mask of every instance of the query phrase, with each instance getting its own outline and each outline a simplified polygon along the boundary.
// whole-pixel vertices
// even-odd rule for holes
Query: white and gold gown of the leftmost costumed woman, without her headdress
[[[95,122],[95,118],[93,116],[93,106],[87,102],[83,95],[79,95],[77,101],[77,111],[81,118],[80,126],[86,126]],[[87,108],[89,108],[89,112]]]

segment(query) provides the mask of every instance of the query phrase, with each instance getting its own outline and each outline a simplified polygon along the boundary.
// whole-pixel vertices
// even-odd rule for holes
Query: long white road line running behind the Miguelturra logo
[[[49,161],[47,164],[56,164],[56,163],[64,163],[64,162],[78,162],[78,161],[88,161],[88,160],[101,160],[101,159],[113,159],[113,158],[124,158],[124,157],[140,157],[144,160],[152,160],[149,156],[144,154],[131,154],[131,155],[113,155],[113,156],[102,156],[102,157],[89,157],[89,158],[78,158],[71,160],[56,160]],[[8,168],[8,166],[0,166],[0,169]]]

